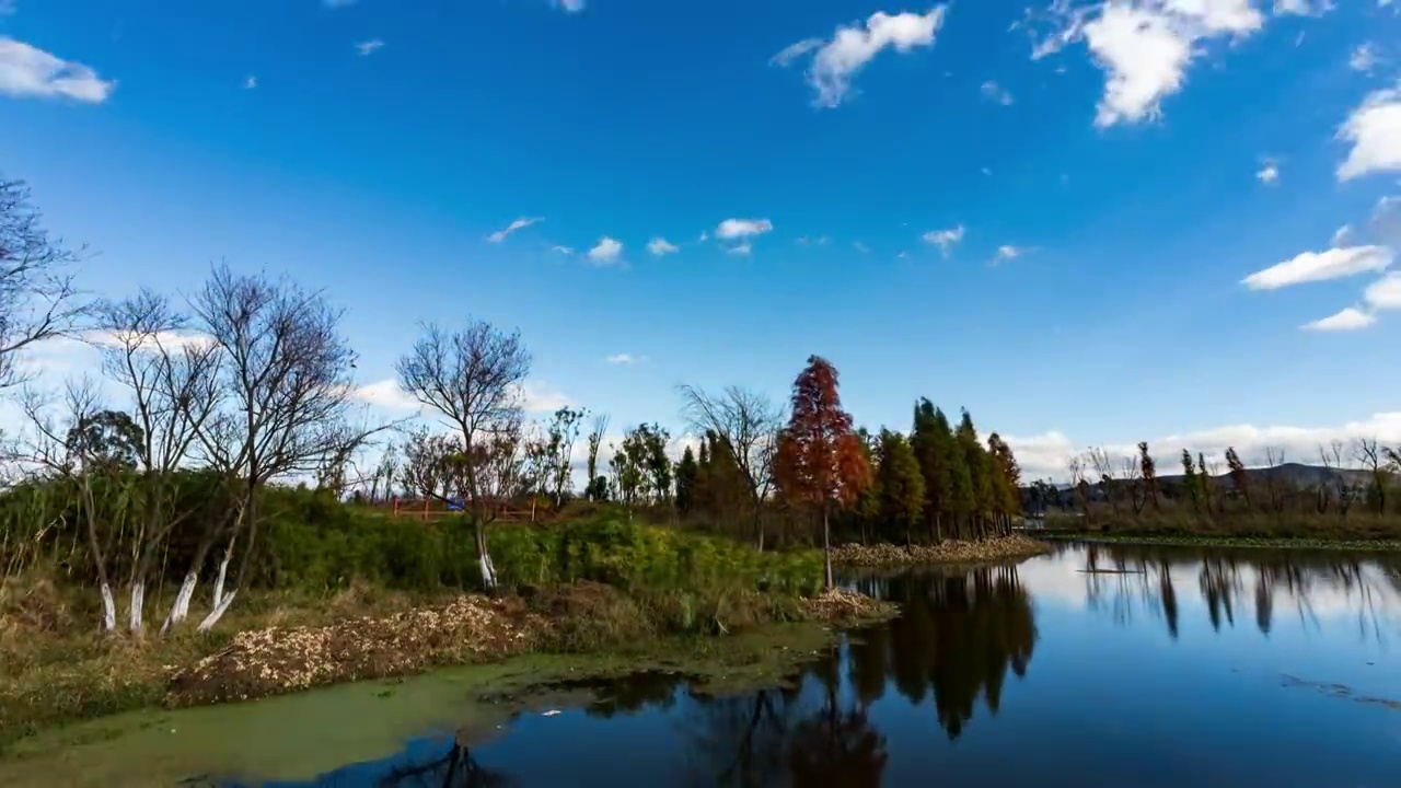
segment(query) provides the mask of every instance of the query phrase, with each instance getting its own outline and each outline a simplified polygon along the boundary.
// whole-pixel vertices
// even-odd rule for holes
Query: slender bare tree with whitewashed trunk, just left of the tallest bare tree
[[[140,635],[146,576],[157,548],[193,512],[175,512],[175,473],[219,407],[219,353],[206,337],[186,332],[185,315],[165,296],[142,290],[97,311],[102,372],[127,390],[142,495],[129,580],[129,628]]]

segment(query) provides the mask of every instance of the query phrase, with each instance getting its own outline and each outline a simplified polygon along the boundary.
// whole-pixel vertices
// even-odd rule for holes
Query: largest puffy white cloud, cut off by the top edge
[[[1076,4],[1055,0],[1056,29],[1033,48],[1033,59],[1083,41],[1105,72],[1097,126],[1139,123],[1161,115],[1161,102],[1178,93],[1187,69],[1216,38],[1243,38],[1264,25],[1252,0],[1139,0]]]

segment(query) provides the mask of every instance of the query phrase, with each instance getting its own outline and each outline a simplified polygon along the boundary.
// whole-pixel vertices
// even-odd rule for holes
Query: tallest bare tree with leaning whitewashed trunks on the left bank
[[[199,430],[210,464],[237,484],[228,541],[214,582],[207,630],[228,610],[247,578],[258,537],[258,489],[268,481],[315,474],[370,433],[349,423],[354,351],[340,335],[339,310],[319,292],[263,275],[235,275],[219,265],[193,299],[200,328],[221,356],[227,407]],[[238,573],[226,595],[228,564],[242,538]],[[212,541],[206,534],[205,541]],[[205,552],[200,544],[186,583],[193,590]],[[186,599],[188,604],[188,599]],[[172,617],[174,617],[172,610]]]

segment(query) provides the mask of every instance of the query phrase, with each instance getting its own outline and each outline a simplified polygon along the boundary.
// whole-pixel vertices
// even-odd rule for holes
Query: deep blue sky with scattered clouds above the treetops
[[[967,405],[1035,471],[1401,443],[1395,0],[3,7],[0,171],[84,283],[287,272],[367,386],[476,315],[619,429],[821,353],[859,423]]]

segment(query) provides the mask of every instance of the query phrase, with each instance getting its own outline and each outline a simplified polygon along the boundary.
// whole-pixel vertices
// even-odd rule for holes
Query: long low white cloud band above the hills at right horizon
[[[1138,440],[1150,436],[1119,436],[1118,443],[1104,444],[1111,457],[1128,457],[1138,454]],[[1159,461],[1159,473],[1163,475],[1181,473],[1175,457],[1188,449],[1192,454],[1201,451],[1208,461],[1222,466],[1219,473],[1224,473],[1226,449],[1236,447],[1241,461],[1251,467],[1265,464],[1265,449],[1283,449],[1288,460],[1309,463],[1318,457],[1318,446],[1332,440],[1351,442],[1356,439],[1377,439],[1383,444],[1401,443],[1401,411],[1376,414],[1363,421],[1352,421],[1339,425],[1325,426],[1255,426],[1255,425],[1227,425],[1213,429],[1187,432],[1150,437],[1149,446]],[[1066,463],[1072,456],[1087,449],[1061,432],[1044,435],[1013,437],[1003,436],[1007,444],[1016,451],[1017,463],[1021,466],[1023,480],[1051,477],[1055,481],[1068,481]],[[1117,464],[1117,463],[1115,463]]]

